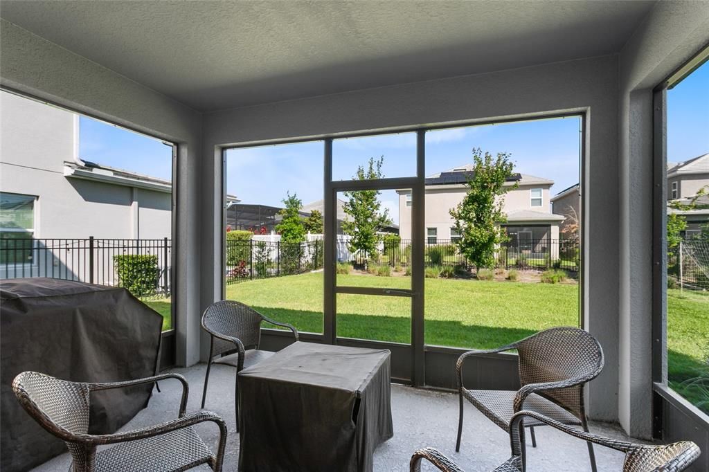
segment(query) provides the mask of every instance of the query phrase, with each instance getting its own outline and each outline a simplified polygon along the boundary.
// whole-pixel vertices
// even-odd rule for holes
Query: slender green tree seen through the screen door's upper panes
[[[367,167],[358,166],[354,174],[355,180],[381,179],[381,164],[384,163],[384,156],[379,159],[369,158]],[[350,250],[361,249],[371,257],[376,253],[377,235],[376,232],[391,225],[389,210],[381,209],[379,201],[379,191],[359,190],[345,192],[347,202],[343,205],[343,210],[350,218],[342,222],[342,231],[350,235]]]

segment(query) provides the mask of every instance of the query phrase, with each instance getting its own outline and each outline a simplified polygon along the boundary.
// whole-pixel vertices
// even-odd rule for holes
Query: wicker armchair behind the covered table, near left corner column
[[[261,322],[287,327],[298,341],[298,330],[293,325],[281,323],[265,317],[253,308],[234,300],[222,300],[210,305],[202,315],[202,328],[208,332],[209,359],[204,374],[202,408],[207,397],[207,383],[212,364],[225,364],[236,368],[235,410],[236,431],[239,431],[239,376],[238,373],[248,366],[258,364],[274,353],[259,349],[261,342]],[[219,356],[218,359],[214,359]]]

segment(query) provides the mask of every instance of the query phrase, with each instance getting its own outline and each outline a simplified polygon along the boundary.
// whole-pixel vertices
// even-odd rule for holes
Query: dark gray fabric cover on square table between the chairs
[[[393,436],[389,349],[296,342],[239,373],[239,470],[372,471]]]

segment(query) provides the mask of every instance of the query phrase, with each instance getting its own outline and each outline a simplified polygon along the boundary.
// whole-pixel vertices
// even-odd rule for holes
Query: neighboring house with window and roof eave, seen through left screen
[[[0,237],[170,237],[170,181],[82,161],[74,113],[0,100]]]

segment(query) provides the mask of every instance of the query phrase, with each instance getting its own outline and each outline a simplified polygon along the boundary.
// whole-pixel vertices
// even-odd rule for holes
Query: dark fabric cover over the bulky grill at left
[[[26,471],[67,450],[12,393],[12,380],[38,371],[69,381],[152,376],[162,316],[124,288],[57,279],[0,281],[0,468]],[[150,399],[152,385],[91,395],[89,432],[115,432]]]

